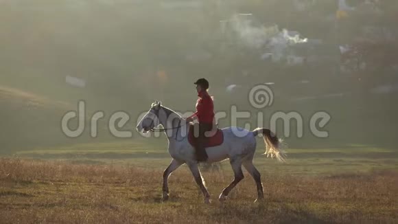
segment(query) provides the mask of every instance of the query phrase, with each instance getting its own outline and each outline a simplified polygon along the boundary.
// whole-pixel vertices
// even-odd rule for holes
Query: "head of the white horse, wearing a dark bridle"
[[[145,113],[142,119],[139,121],[137,125],[137,131],[147,133],[151,128],[154,128],[160,124],[159,122],[159,111],[161,111],[162,103],[159,101],[155,101],[152,103],[149,111]]]

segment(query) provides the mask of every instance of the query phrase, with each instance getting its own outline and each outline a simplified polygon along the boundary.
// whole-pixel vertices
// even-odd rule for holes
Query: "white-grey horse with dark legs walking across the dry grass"
[[[168,178],[178,167],[187,164],[192,175],[194,175],[196,183],[204,196],[204,202],[210,203],[210,195],[204,186],[204,180],[198,168],[198,161],[195,156],[195,148],[189,144],[188,132],[189,125],[186,120],[178,115],[178,113],[163,107],[161,102],[152,103],[150,110],[146,113],[137,125],[137,131],[147,133],[148,131],[156,131],[156,126],[163,126],[164,129],[158,131],[165,131],[168,139],[168,150],[171,155],[172,162],[163,172],[163,201],[169,198]],[[208,162],[222,161],[229,159],[233,169],[235,178],[233,181],[222,190],[220,201],[224,201],[229,192],[244,179],[242,172],[242,165],[250,173],[257,184],[257,199],[259,201],[264,199],[263,185],[261,183],[261,175],[253,165],[253,157],[256,150],[256,139],[258,134],[262,134],[266,144],[267,157],[277,157],[279,161],[285,161],[285,152],[281,148],[281,139],[278,139],[268,128],[256,128],[253,131],[248,131],[244,128],[228,127],[222,128],[224,134],[224,141],[218,146],[206,148],[209,156]]]

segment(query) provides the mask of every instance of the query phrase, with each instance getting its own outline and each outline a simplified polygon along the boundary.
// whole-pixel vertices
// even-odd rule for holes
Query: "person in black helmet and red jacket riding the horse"
[[[196,85],[196,91],[198,92],[198,100],[196,101],[196,112],[187,117],[187,122],[191,122],[194,120],[194,117],[198,118],[199,135],[195,136],[195,145],[196,145],[196,159],[198,161],[207,161],[207,153],[204,149],[204,141],[206,137],[204,133],[207,131],[211,131],[213,128],[214,122],[214,106],[213,106],[213,98],[209,96],[209,81],[205,78],[199,78],[194,82]],[[196,130],[196,129],[195,129]]]

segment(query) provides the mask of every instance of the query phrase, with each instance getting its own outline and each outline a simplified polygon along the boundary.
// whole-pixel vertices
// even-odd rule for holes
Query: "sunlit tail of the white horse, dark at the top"
[[[267,155],[267,157],[277,157],[277,159],[281,162],[285,162],[286,152],[284,150],[286,144],[282,142],[282,139],[278,139],[277,135],[272,133],[272,131],[268,128],[255,128],[252,131],[253,135],[256,137],[259,133],[263,134],[264,143],[266,144],[266,153],[263,155]]]

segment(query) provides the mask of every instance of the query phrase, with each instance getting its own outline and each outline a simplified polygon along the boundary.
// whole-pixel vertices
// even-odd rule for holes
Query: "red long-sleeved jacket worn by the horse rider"
[[[199,123],[213,124],[214,120],[214,105],[213,99],[209,96],[207,91],[200,91],[196,101],[196,112],[189,117],[198,117]]]

